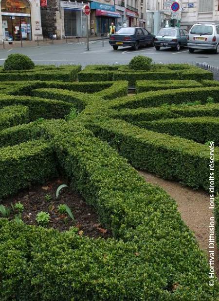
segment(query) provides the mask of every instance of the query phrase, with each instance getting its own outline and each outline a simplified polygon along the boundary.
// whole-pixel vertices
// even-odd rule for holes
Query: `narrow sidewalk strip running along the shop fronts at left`
[[[89,36],[89,41],[98,41],[98,40],[106,40],[109,39],[107,36]],[[43,41],[4,41],[0,42],[0,50],[3,49],[15,49],[20,47],[36,47],[36,46],[46,46],[46,45],[57,45],[57,44],[81,44],[86,43],[86,37],[71,37],[71,38],[63,38],[62,40],[55,40],[44,38]]]

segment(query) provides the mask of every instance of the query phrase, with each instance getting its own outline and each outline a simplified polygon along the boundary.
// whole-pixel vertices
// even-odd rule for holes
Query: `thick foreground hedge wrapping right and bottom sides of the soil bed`
[[[175,201],[82,126],[64,121],[43,126],[73,187],[117,239],[94,240],[74,228],[59,233],[0,219],[1,300],[218,297],[217,282],[207,283],[206,257]]]

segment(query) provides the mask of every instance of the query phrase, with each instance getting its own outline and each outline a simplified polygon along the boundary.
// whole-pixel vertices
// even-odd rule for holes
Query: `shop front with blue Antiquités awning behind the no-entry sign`
[[[120,17],[114,5],[91,2],[91,33],[109,33],[110,24]]]

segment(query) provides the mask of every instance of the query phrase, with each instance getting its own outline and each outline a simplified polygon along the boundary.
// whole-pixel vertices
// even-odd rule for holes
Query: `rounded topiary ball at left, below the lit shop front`
[[[28,70],[35,67],[34,62],[24,54],[10,54],[4,62],[4,70]]]

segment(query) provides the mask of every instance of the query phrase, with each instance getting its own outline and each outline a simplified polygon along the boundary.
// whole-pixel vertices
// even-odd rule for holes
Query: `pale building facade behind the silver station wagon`
[[[182,0],[181,26],[189,30],[198,22],[219,24],[219,0]]]

